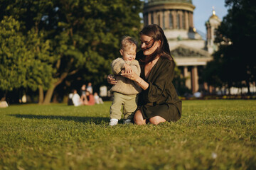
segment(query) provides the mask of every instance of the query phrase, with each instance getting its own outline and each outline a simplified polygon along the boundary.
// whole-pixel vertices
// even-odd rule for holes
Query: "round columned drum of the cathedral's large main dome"
[[[189,30],[193,32],[192,0],[144,1],[144,25],[158,24],[164,30]]]

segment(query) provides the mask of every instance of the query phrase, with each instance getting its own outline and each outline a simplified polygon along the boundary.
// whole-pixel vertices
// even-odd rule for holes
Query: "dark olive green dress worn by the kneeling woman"
[[[173,60],[160,57],[146,79],[142,66],[141,77],[149,84],[149,88],[139,94],[138,109],[142,111],[144,119],[148,120],[156,115],[167,121],[181,118],[181,100],[172,84],[174,67]]]

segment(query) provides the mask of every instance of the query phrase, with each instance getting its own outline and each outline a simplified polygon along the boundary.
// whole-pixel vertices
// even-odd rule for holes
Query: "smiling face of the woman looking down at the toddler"
[[[140,36],[141,47],[144,55],[151,55],[156,51],[157,47],[161,45],[161,41],[155,41],[148,35]]]

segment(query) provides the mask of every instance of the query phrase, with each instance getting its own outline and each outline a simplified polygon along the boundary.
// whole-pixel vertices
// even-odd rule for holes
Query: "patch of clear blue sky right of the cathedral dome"
[[[225,7],[225,0],[192,0],[196,6],[193,12],[193,22],[196,30],[206,34],[205,23],[212,15],[213,6],[215,8],[216,16],[223,20],[223,16],[227,15],[228,8]]]

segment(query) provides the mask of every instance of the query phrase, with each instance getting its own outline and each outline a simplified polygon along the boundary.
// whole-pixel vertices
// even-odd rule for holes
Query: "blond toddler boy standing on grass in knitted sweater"
[[[142,89],[132,80],[122,77],[120,74],[136,72],[140,74],[139,62],[134,60],[136,57],[137,43],[133,38],[126,36],[121,41],[120,54],[122,58],[117,58],[111,64],[112,72],[117,79],[117,84],[112,86],[114,100],[110,107],[110,125],[117,125],[121,119],[121,109],[124,106],[124,123],[131,123],[134,111],[137,109],[137,94]]]

